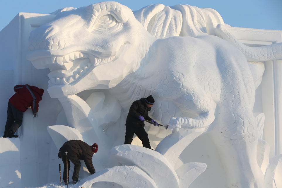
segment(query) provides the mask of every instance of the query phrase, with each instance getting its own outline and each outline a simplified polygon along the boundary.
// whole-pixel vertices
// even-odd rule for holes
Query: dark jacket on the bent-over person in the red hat
[[[81,140],[70,140],[63,144],[59,153],[65,153],[66,151],[68,152],[69,157],[78,157],[79,160],[84,160],[90,174],[95,173],[95,168],[93,167],[92,162],[93,153],[91,146]]]

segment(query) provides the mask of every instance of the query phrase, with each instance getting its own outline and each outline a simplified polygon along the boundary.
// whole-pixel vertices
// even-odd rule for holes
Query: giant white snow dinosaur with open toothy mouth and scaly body
[[[150,12],[145,8],[136,12],[136,18],[164,39],[152,36],[129,8],[116,2],[63,11],[30,34],[28,59],[37,69],[50,69],[48,92],[53,98],[109,89],[126,109],[136,96],[152,94],[161,101],[154,107],[154,119],[175,128],[164,141],[191,130],[213,131],[228,186],[264,187],[263,173],[254,160],[264,117],[252,113],[263,68],[248,63],[245,56],[251,61],[281,59],[282,45],[249,48],[235,40],[242,53],[217,36],[183,36],[196,35],[197,30],[181,28],[185,26],[181,7],[185,6],[171,12],[169,7],[156,5],[153,10],[160,7],[175,13],[164,27],[169,28],[166,32],[155,30],[160,27],[151,23],[163,18],[162,14],[149,19],[144,17]],[[223,22],[219,19],[218,23]],[[223,26],[206,32],[229,35]],[[270,56],[261,53],[265,49]]]

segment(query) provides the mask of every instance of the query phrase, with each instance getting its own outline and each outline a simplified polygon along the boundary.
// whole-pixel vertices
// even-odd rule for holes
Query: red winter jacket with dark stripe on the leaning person
[[[9,102],[21,112],[25,112],[31,106],[33,112],[38,112],[39,101],[42,100],[44,90],[30,85],[17,85],[16,92]]]

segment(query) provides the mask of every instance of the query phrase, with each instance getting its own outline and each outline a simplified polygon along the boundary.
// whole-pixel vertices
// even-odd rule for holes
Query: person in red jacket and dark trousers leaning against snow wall
[[[39,101],[42,100],[44,90],[30,85],[17,85],[16,92],[8,102],[7,121],[5,125],[4,138],[18,137],[14,133],[23,123],[23,112],[31,106],[33,117],[37,117]]]

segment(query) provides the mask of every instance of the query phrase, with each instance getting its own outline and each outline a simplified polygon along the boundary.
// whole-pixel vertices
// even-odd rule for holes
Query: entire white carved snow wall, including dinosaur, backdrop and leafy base
[[[24,112],[19,138],[0,137],[0,187],[61,187],[57,153],[73,139],[99,150],[96,173],[81,161],[70,188],[282,187],[281,141],[266,142],[278,112],[262,91],[279,92],[266,75],[282,44],[249,47],[233,29],[215,10],[189,5],[19,13],[0,32],[2,124],[14,85],[45,93],[37,118]],[[148,95],[149,116],[169,125],[145,123],[155,151],[136,137],[123,145],[130,105]]]

